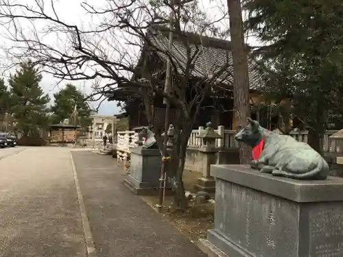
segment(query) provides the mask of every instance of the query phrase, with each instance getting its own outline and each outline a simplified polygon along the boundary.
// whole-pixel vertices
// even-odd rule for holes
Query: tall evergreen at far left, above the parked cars
[[[22,63],[21,68],[8,80],[12,106],[10,112],[16,120],[16,129],[23,136],[32,136],[48,124],[47,103],[49,96],[43,93],[39,83],[42,75],[31,62]]]

